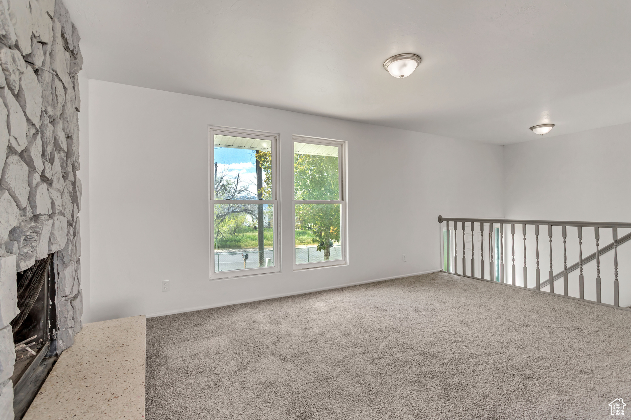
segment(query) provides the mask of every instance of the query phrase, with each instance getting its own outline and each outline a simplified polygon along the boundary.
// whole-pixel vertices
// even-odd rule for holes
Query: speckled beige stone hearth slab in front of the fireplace
[[[144,315],[86,324],[24,416],[144,419]]]

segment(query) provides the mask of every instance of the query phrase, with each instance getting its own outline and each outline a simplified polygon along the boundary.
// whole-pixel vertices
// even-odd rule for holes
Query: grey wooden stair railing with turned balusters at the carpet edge
[[[625,236],[618,238],[618,229],[631,229],[631,223],[618,223],[618,222],[570,222],[567,220],[508,220],[508,219],[462,219],[462,218],[454,218],[454,217],[443,217],[439,216],[438,221],[440,224],[442,222],[446,222],[447,224],[447,232],[450,232],[450,224],[454,229],[454,247],[453,247],[453,261],[454,264],[451,266],[449,264],[447,266],[447,270],[440,270],[452,274],[456,274],[459,276],[465,276],[469,278],[476,278],[478,280],[487,280],[495,282],[495,279],[498,278],[498,283],[511,285],[515,287],[523,287],[529,290],[536,290],[544,293],[551,293],[553,295],[563,296],[574,298],[578,300],[584,300],[586,302],[593,302],[606,306],[620,307],[620,287],[618,282],[618,246],[623,243],[629,241],[631,239],[631,233]],[[505,279],[505,266],[504,266],[504,226],[510,225],[510,278]],[[522,286],[516,285],[516,264],[515,264],[515,225],[522,225],[522,235],[524,241],[524,267],[523,267],[523,277],[522,277]],[[528,266],[527,266],[527,254],[526,254],[526,234],[528,232],[528,225],[534,225],[534,236],[536,241],[536,270],[535,270],[535,281],[534,286],[529,287],[528,283]],[[480,243],[480,266],[478,267],[478,271],[480,273],[479,276],[476,276],[476,261],[475,261],[475,244],[474,237],[476,233],[476,226],[478,227],[478,232],[480,233],[481,243]],[[485,237],[485,226],[488,227],[488,238]],[[563,270],[559,273],[555,274],[553,271],[553,255],[552,255],[552,238],[553,238],[553,227],[558,226],[561,227],[562,238],[563,238]],[[567,266],[567,227],[576,227],[577,228],[577,241],[579,244],[579,261],[575,264]],[[495,227],[499,227],[499,236],[498,238],[494,238],[493,231]],[[548,229],[545,229],[547,227]],[[540,228],[541,233],[548,236],[548,251],[550,258],[550,270],[548,271],[547,278],[544,278],[541,281],[541,273],[540,273]],[[593,228],[594,232],[594,241],[596,242],[596,252],[590,254],[586,258],[582,256],[582,245],[583,245],[583,228]],[[600,248],[600,230],[601,229],[611,229],[611,237],[613,242],[610,244]],[[546,232],[547,230],[547,232]],[[531,230],[532,231],[532,230]],[[462,264],[459,267],[458,264],[458,247],[457,247],[457,237],[459,236],[459,232],[462,232]],[[466,255],[466,246],[465,246],[465,236],[471,232],[471,261],[468,263],[468,255]],[[451,237],[451,233],[450,236]],[[485,261],[484,261],[484,243],[488,239],[488,278],[485,276]],[[508,238],[507,238],[508,239]],[[545,237],[543,238],[545,240]],[[519,240],[519,238],[518,238]],[[500,261],[498,263],[499,266],[499,275],[495,275],[495,262],[493,261],[493,249],[495,244],[499,241],[499,251],[500,255],[495,256],[495,258],[499,258]],[[608,253],[613,250],[613,305],[604,304],[602,302],[602,279],[600,278],[600,258],[603,254]],[[451,247],[449,248],[449,253],[451,253]],[[596,260],[596,300],[587,300],[585,298],[585,285],[584,285],[584,275],[583,268],[584,265]],[[451,261],[451,255],[450,255]],[[568,274],[572,271],[579,270],[579,297],[570,297],[569,296],[569,280]],[[555,280],[560,280],[563,278],[563,295],[560,293],[555,293]],[[541,288],[548,287],[548,291],[541,290]],[[627,308],[621,308],[627,309]]]

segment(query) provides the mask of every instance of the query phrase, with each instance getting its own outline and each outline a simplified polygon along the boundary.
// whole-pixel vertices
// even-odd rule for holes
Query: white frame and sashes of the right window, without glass
[[[326,146],[336,146],[338,152],[338,179],[339,179],[339,200],[295,200],[295,172],[294,172],[294,142],[321,144]],[[293,217],[293,270],[309,270],[311,268],[323,268],[331,266],[348,265],[348,184],[346,183],[346,148],[348,142],[345,140],[322,139],[320,137],[310,137],[307,135],[292,136],[292,217]],[[339,244],[341,249],[341,259],[333,259],[329,261],[316,261],[315,263],[296,264],[296,205],[297,204],[339,204],[339,224],[341,232],[339,234]]]

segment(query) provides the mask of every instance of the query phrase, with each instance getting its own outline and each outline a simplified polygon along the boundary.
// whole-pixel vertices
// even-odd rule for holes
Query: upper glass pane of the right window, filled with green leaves
[[[293,144],[295,200],[339,200],[339,147]]]

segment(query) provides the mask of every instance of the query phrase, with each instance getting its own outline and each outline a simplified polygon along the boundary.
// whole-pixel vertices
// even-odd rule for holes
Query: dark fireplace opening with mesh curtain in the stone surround
[[[53,255],[38,259],[16,275],[20,313],[11,321],[15,343],[11,380],[16,420],[24,416],[57,360]]]

